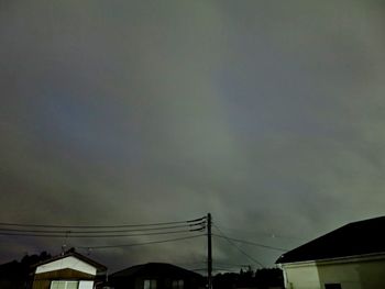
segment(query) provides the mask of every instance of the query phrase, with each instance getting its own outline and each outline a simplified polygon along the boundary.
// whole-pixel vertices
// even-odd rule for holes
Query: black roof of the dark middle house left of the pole
[[[110,278],[145,277],[153,276],[154,274],[158,276],[173,276],[180,278],[202,278],[202,276],[197,273],[166,263],[147,263],[132,266],[110,275]]]

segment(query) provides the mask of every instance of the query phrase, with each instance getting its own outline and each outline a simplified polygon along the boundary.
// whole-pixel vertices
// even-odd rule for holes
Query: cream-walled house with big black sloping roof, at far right
[[[286,288],[385,288],[385,216],[339,227],[282,255]]]

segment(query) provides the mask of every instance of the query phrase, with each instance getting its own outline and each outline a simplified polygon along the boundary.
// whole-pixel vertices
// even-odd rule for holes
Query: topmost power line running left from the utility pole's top
[[[176,222],[145,223],[145,224],[121,224],[121,225],[57,225],[57,224],[22,224],[0,222],[0,226],[19,226],[19,227],[51,227],[51,229],[117,229],[117,227],[141,227],[141,226],[162,226],[172,224],[190,224],[206,220],[206,216]]]

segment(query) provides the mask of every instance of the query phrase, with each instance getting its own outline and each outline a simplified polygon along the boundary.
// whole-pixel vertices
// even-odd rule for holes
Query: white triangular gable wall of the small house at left
[[[43,264],[36,268],[36,274],[61,270],[66,268],[70,268],[94,276],[97,274],[97,269],[94,266],[74,256],[68,256],[63,259],[57,259],[47,264]]]

